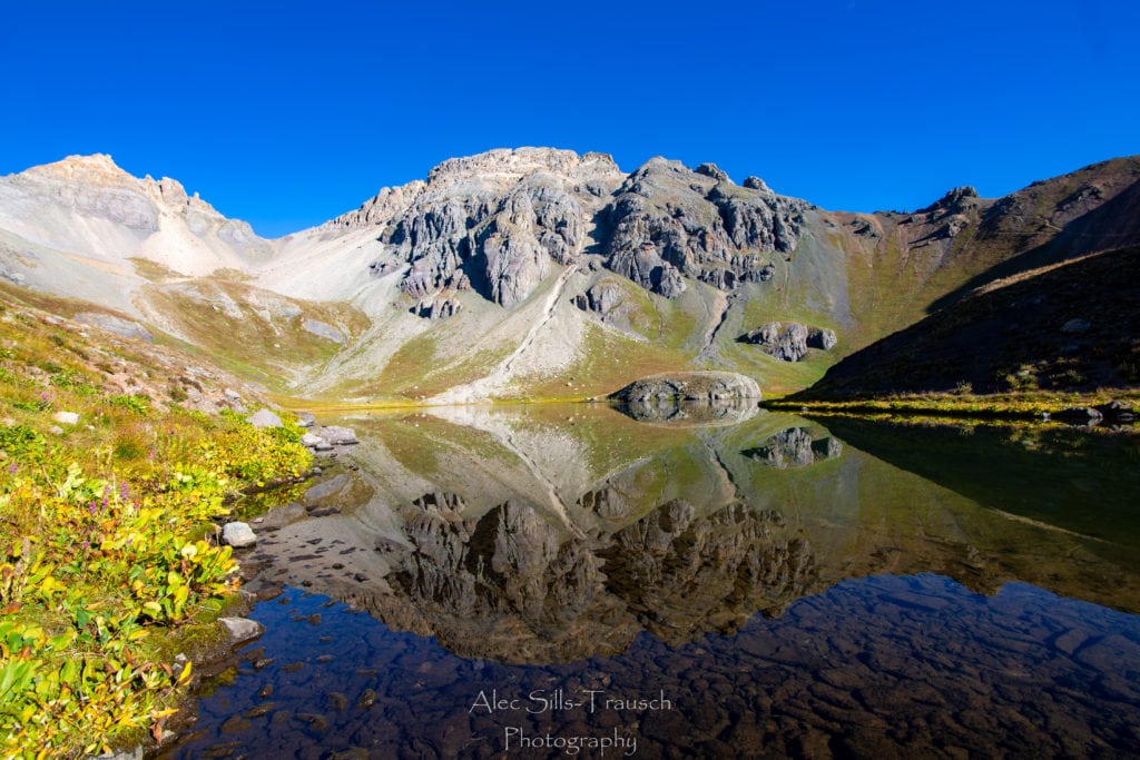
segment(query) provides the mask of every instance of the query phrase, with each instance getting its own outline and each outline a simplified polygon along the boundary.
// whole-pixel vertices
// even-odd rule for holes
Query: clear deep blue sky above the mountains
[[[1140,153],[1138,30],[1134,0],[5,2],[0,174],[109,153],[267,236],[524,145],[912,210]]]

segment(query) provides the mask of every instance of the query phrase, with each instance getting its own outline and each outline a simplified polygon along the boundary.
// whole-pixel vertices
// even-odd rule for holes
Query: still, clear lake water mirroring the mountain
[[[1140,436],[634,417],[342,420],[166,757],[1140,753]]]

